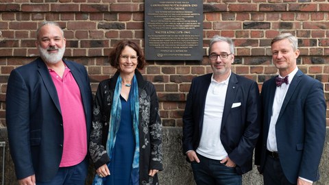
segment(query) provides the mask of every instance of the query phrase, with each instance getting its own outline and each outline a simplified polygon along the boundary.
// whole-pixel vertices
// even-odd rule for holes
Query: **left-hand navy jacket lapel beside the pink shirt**
[[[41,58],[38,58],[38,71],[51,99],[53,100],[53,103],[55,103],[56,108],[58,109],[60,114],[62,114],[62,112],[60,111],[60,100],[58,99],[56,87],[53,84],[53,79],[51,79],[45,62],[43,62]]]

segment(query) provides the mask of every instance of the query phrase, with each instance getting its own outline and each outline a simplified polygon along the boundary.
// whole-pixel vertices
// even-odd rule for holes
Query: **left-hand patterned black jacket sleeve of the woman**
[[[103,109],[105,103],[105,98],[110,96],[109,91],[103,88],[102,83],[99,84],[97,88],[97,93],[95,95],[95,101],[93,105],[93,125],[90,130],[90,140],[89,140],[89,152],[90,156],[95,165],[95,169],[98,169],[103,164],[110,162],[108,153],[106,152],[106,147],[102,145],[103,129],[105,119],[103,119]],[[110,106],[110,105],[108,105]]]

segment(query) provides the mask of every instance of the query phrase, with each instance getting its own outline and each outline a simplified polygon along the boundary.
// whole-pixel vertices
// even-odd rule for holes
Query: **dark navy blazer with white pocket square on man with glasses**
[[[192,81],[183,116],[183,152],[196,150],[202,134],[204,106],[212,74]],[[241,106],[232,108],[233,103]],[[260,99],[256,82],[232,73],[221,123],[221,143],[239,174],[252,169],[252,153],[260,132]]]

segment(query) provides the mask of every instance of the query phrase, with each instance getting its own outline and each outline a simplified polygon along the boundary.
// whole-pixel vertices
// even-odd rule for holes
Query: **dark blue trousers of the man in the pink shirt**
[[[61,167],[50,182],[36,182],[37,185],[84,185],[88,174],[88,157],[72,167]]]

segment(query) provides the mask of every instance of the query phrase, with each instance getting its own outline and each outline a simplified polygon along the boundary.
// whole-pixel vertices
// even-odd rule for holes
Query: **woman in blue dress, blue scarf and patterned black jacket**
[[[123,40],[112,49],[117,73],[99,83],[93,108],[89,151],[93,184],[158,184],[162,170],[162,126],[156,89],[143,79],[141,47]]]

